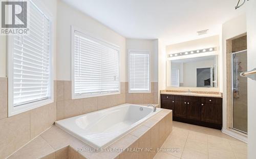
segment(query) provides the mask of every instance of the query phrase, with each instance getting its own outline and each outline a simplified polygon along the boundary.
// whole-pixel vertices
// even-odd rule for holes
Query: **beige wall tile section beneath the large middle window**
[[[57,81],[57,120],[82,115],[125,103],[125,82],[120,94],[72,100],[71,81]]]

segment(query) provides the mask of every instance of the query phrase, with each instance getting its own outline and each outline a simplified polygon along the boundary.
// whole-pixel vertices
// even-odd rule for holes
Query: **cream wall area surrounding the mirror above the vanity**
[[[165,53],[165,58],[167,59],[168,54],[175,54],[175,53],[180,53],[180,52],[186,52],[186,51],[191,51],[191,50],[198,50],[198,49],[206,49],[206,48],[211,48],[211,47],[216,47],[217,48],[217,54],[219,55],[218,57],[218,88],[199,88],[199,87],[172,87],[170,86],[169,82],[170,81],[170,62],[166,62],[166,89],[182,89],[182,90],[205,90],[205,91],[218,91],[220,92],[221,90],[221,78],[220,78],[220,70],[222,70],[222,67],[220,65],[221,57],[220,57],[220,38],[219,35],[216,36],[211,36],[211,37],[206,37],[206,38],[201,38],[201,39],[196,39],[196,40],[191,40],[191,41],[186,41],[186,42],[181,42],[177,44],[171,44],[166,46],[166,53]],[[202,53],[204,54],[204,53]],[[201,55],[202,55],[201,54]],[[208,53],[205,53],[207,55]],[[198,56],[197,54],[194,55],[187,55],[187,56]]]

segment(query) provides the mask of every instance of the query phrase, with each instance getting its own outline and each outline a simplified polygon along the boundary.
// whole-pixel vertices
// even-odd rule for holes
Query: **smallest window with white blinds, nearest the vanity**
[[[151,93],[148,51],[129,51],[129,93]]]

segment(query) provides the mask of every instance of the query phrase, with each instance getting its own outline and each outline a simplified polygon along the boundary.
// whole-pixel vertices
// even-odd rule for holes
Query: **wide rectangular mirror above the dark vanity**
[[[170,60],[173,87],[218,87],[218,55]]]

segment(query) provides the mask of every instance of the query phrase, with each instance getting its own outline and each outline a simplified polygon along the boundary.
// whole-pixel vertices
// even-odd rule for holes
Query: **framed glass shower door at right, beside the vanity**
[[[247,51],[232,53],[232,128],[247,133],[247,78],[240,77],[247,71]]]

